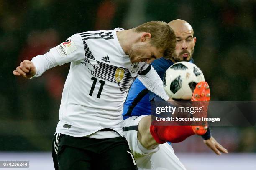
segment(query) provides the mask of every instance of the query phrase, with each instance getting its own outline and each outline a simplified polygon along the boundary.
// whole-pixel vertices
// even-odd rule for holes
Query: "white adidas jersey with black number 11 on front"
[[[128,89],[150,67],[131,63],[118,42],[118,30],[123,29],[78,33],[50,50],[59,65],[71,62],[56,133],[82,137],[110,128],[123,136]]]

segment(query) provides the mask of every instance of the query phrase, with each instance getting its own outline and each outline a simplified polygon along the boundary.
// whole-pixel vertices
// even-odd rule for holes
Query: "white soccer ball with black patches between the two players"
[[[201,81],[205,81],[205,77],[195,64],[186,61],[177,62],[164,74],[164,91],[170,98],[190,100],[195,86]]]

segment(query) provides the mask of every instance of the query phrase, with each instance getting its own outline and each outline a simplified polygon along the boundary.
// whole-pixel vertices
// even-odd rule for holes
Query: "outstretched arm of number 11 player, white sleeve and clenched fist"
[[[80,35],[75,34],[46,54],[33,57],[31,61],[24,60],[13,74],[25,78],[38,77],[52,67],[80,60],[84,60],[84,46]]]

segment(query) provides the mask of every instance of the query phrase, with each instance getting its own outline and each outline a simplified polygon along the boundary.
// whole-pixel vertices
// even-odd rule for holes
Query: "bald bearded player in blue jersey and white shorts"
[[[175,62],[194,62],[192,55],[196,37],[189,23],[184,20],[173,20],[168,23],[175,32],[177,45],[171,58],[155,60],[154,67],[162,79],[166,70]],[[151,103],[150,100],[161,101],[161,97],[150,92],[136,79],[129,90],[123,107],[123,130],[128,140],[129,147],[133,152],[139,169],[172,169],[185,170],[186,168],[174,154],[172,146],[168,143],[159,144],[150,132],[151,126]],[[216,154],[228,153],[211,135],[210,128],[202,135],[204,143]],[[152,154],[154,153],[154,154]]]

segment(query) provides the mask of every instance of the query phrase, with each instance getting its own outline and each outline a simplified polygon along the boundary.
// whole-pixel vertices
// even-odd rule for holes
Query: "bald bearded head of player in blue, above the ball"
[[[192,26],[184,20],[173,20],[168,25],[174,30],[176,47],[174,54],[169,58],[172,62],[189,61],[194,53],[196,37]]]

